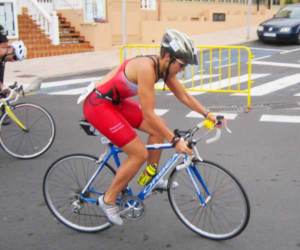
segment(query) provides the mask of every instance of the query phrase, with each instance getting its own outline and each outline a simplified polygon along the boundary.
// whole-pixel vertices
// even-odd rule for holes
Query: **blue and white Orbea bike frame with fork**
[[[123,152],[119,147],[113,145],[112,143],[109,143],[109,149],[107,149],[99,158],[99,167],[97,168],[97,170],[94,172],[94,174],[92,175],[92,177],[88,180],[88,182],[86,183],[85,187],[82,189],[82,191],[80,192],[80,199],[84,200],[84,201],[90,201],[90,202],[96,202],[96,199],[91,199],[91,198],[85,198],[83,197],[83,194],[86,190],[88,190],[89,192],[93,192],[93,193],[97,193],[97,194],[103,194],[103,192],[99,192],[95,189],[90,188],[91,183],[93,182],[93,180],[95,179],[95,177],[97,176],[97,174],[101,171],[102,167],[104,166],[104,164],[108,161],[108,159],[113,156],[114,161],[116,163],[116,166],[119,167],[120,166],[120,161],[118,158],[118,153]],[[146,145],[146,148],[148,150],[154,150],[154,149],[167,149],[167,148],[173,148],[172,145],[170,143],[161,143],[161,144],[152,144],[152,145]],[[108,152],[108,155],[103,159],[103,157],[105,156],[105,154]],[[153,177],[153,179],[147,184],[145,185],[145,187],[139,192],[139,194],[137,195],[137,197],[141,200],[145,199],[145,197],[149,194],[149,192],[155,187],[156,183],[168,172],[169,169],[172,168],[172,166],[176,163],[176,161],[180,158],[183,157],[183,161],[185,162],[187,160],[187,155],[186,154],[180,154],[178,152],[175,152],[170,158],[169,160],[161,167],[161,169],[159,170],[159,172],[157,172],[155,174],[155,176]],[[192,165],[192,166],[191,166]],[[200,205],[205,205],[211,195],[207,189],[207,187],[205,186],[204,181],[202,180],[200,173],[198,172],[197,168],[193,166],[193,164],[191,164],[189,166],[186,167],[186,170],[188,172],[188,175],[191,179],[191,182],[195,188],[195,191],[201,201]],[[182,169],[183,171],[184,169]],[[207,198],[204,200],[202,197],[202,194],[198,188],[198,185],[196,183],[196,179],[195,177],[199,180],[200,184],[203,186],[206,194],[207,194]],[[133,195],[133,192],[130,188],[130,185],[127,184],[125,187],[128,191],[129,195]],[[119,198],[117,199],[117,203],[119,202]]]

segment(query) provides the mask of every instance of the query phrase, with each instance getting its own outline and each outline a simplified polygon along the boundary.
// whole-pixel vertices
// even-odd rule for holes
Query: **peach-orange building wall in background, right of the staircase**
[[[83,10],[77,9],[81,15],[73,10],[57,10],[61,12],[71,26],[75,26],[80,35],[85,36],[85,40],[94,46],[94,50],[103,50],[112,48],[112,38],[114,31],[112,27],[120,18],[110,18],[111,2],[107,0],[107,18],[108,23],[84,23]],[[135,0],[132,0],[132,2]],[[251,6],[251,25],[259,24],[261,21],[272,17],[277,9],[267,9],[266,6],[259,6],[256,11],[256,5]],[[225,21],[212,21],[212,13],[225,13]],[[131,12],[128,14],[132,15]],[[140,16],[140,22],[136,23],[136,18],[127,18],[127,42],[150,44],[152,40],[159,41],[166,27],[184,30],[188,35],[213,32],[247,25],[247,5],[246,4],[225,4],[225,3],[199,3],[199,2],[160,2],[160,11],[158,11],[158,2],[156,1],[156,10],[140,10],[134,14]],[[191,17],[197,17],[199,20],[190,20]],[[159,20],[160,19],[160,20]],[[206,20],[204,20],[206,19]],[[131,23],[132,22],[132,23]],[[131,30],[132,28],[133,31]],[[119,27],[121,28],[121,27]],[[138,33],[138,37],[130,39],[131,33]],[[121,34],[120,34],[121,35]],[[136,38],[137,37],[137,38]],[[137,39],[137,42],[134,41]],[[121,41],[121,39],[118,39]],[[114,42],[114,44],[116,44]]]

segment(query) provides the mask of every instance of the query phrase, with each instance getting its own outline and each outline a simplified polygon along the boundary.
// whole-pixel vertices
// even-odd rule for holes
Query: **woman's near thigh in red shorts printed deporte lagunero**
[[[110,101],[103,100],[98,105],[85,101],[83,113],[96,129],[118,147],[128,144],[137,136],[130,123],[118,111],[118,106]]]

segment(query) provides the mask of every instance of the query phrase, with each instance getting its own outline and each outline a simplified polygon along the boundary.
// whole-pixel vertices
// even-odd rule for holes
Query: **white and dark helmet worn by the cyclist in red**
[[[173,56],[185,59],[189,64],[198,65],[196,48],[188,35],[176,29],[166,28],[160,46],[171,51]]]

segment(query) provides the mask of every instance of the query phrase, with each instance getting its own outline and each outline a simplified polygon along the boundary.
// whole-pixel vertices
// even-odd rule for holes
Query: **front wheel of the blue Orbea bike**
[[[244,188],[228,170],[211,161],[193,160],[211,199],[201,206],[201,201],[189,178],[187,169],[176,168],[168,179],[168,199],[177,217],[195,233],[210,239],[223,240],[241,233],[250,217],[250,205]],[[195,176],[195,175],[194,175]],[[205,200],[207,197],[198,178],[196,182]],[[173,181],[178,182],[174,189]]]

